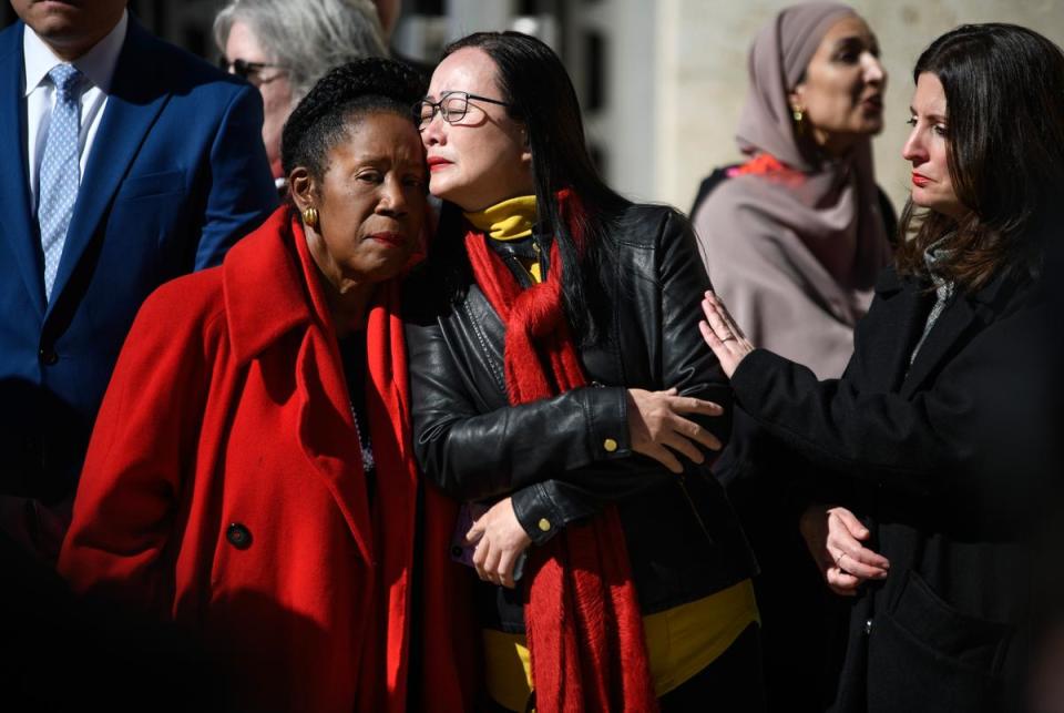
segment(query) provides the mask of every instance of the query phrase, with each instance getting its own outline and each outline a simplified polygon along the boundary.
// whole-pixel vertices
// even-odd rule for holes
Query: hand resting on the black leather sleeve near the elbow
[[[696,444],[709,450],[720,450],[720,441],[681,414],[720,416],[723,412],[724,408],[713,401],[677,396],[675,388],[667,391],[628,389],[628,436],[632,450],[649,456],[673,472],[683,472],[684,467],[673,450],[683,454],[693,462],[700,464],[705,456]]]

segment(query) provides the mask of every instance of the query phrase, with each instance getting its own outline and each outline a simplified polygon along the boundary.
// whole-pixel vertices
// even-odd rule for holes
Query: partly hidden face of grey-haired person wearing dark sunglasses
[[[252,28],[239,20],[229,28],[229,37],[225,42],[225,57],[229,61],[231,69],[236,60],[248,63],[270,63]],[[257,86],[263,94],[263,143],[266,145],[266,156],[269,159],[274,177],[280,177],[280,133],[293,109],[288,73],[282,68],[267,67],[250,72],[247,81]]]

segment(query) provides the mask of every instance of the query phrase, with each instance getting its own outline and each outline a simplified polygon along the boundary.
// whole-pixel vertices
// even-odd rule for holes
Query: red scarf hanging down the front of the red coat
[[[303,225],[291,232],[306,275],[316,272]],[[316,312],[328,318],[325,295],[308,279]],[[369,635],[362,649],[358,710],[406,713],[407,710],[450,713],[471,706],[475,690],[468,632],[475,628],[471,594],[462,589],[464,568],[448,554],[457,505],[432,487],[422,488],[423,511],[417,521],[421,475],[413,457],[410,385],[400,317],[400,281],[378,286],[366,318],[366,411],[376,461],[377,488],[372,509],[375,602]],[[339,363],[339,350],[334,344]],[[361,450],[358,470],[362,472]],[[362,476],[365,477],[365,476]],[[422,581],[420,597],[410,590],[415,566],[415,532],[421,529]],[[421,680],[419,697],[408,705],[411,602],[420,600]],[[352,675],[356,675],[352,672]]]

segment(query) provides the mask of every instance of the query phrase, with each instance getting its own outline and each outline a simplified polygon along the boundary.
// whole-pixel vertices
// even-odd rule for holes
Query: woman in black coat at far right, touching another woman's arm
[[[842,378],[755,349],[712,294],[702,328],[737,401],[818,466],[809,491],[845,506],[804,520],[828,583],[859,595],[832,710],[1014,710],[1048,462],[1039,282],[1064,191],[1064,53],[964,26],[913,79],[906,240]]]

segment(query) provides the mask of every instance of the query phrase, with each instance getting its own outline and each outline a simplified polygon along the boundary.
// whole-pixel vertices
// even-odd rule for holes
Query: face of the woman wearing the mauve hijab
[[[863,20],[848,17],[823,35],[789,99],[805,114],[814,141],[838,155],[883,128],[886,89],[876,35]]]

